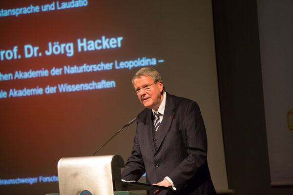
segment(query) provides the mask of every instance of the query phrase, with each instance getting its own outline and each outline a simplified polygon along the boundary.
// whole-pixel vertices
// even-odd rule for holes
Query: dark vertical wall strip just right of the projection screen
[[[257,2],[212,5],[229,188],[235,195],[292,195],[292,187],[270,184]]]

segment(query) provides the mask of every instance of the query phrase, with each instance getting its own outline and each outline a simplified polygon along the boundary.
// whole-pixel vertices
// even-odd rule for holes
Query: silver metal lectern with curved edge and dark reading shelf
[[[165,190],[167,187],[121,181],[121,156],[66,157],[58,162],[60,195],[115,195],[118,191]]]

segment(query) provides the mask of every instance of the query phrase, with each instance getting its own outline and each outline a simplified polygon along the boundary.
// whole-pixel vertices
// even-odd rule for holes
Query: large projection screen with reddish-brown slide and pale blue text
[[[0,193],[58,193],[61,157],[90,156],[144,107],[131,78],[157,69],[167,92],[195,100],[209,168],[228,189],[206,0],[0,2]],[[97,155],[130,155],[135,124]]]

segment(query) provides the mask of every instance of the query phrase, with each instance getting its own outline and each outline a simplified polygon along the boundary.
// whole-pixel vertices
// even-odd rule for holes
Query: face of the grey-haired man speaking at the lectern
[[[151,90],[145,91],[142,89],[147,85],[152,86]],[[141,76],[133,80],[133,86],[135,90],[141,89],[140,93],[137,94],[137,97],[146,108],[158,110],[161,102],[163,101],[163,83],[161,81],[154,84],[152,78],[148,76]]]

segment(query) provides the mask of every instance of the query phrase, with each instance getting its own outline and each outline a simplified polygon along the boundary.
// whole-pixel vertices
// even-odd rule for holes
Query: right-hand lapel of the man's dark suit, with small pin
[[[163,120],[162,120],[161,125],[159,127],[159,130],[157,132],[158,140],[156,141],[156,144],[157,144],[158,150],[156,152],[159,151],[159,149],[163,143],[163,140],[165,139],[165,137],[170,129],[173,117],[175,115],[175,112],[173,110],[174,110],[173,100],[170,97],[170,95],[167,94],[167,92],[166,92],[166,105],[165,105],[164,117],[163,117]],[[152,133],[150,133],[150,134],[152,135]]]

